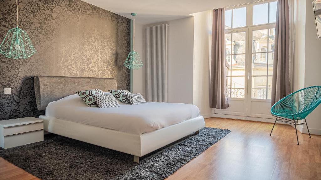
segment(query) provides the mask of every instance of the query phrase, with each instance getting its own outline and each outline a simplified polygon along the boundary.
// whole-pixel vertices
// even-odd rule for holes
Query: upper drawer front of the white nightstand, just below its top
[[[31,123],[31,124],[24,124],[12,127],[4,127],[3,135],[15,135],[30,131],[37,131],[43,129],[43,122]]]

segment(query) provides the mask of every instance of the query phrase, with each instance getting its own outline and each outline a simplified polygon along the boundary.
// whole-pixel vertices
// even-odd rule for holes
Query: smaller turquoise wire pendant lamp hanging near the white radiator
[[[137,52],[134,50],[134,42],[135,42],[135,16],[136,13],[131,13],[134,16],[134,27],[133,27],[133,51],[130,52],[126,58],[124,66],[126,66],[130,70],[137,70],[143,66],[143,62],[140,60],[140,57]]]

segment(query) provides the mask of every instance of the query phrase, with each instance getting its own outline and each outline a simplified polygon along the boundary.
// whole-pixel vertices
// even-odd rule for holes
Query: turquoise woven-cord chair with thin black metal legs
[[[272,116],[275,116],[275,122],[272,127],[271,133],[275,126],[276,121],[281,121],[289,124],[294,124],[297,141],[299,145],[299,138],[297,133],[297,125],[307,125],[305,119],[310,112],[312,112],[321,103],[321,86],[311,86],[300,89],[294,93],[285,96],[280,101],[276,102],[271,108]],[[278,118],[283,120],[278,120]],[[299,120],[304,119],[305,123],[299,123]]]

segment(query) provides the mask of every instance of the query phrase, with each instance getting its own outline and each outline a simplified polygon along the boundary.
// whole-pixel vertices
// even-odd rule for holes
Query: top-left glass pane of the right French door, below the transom
[[[267,29],[253,31],[253,53],[267,51]]]

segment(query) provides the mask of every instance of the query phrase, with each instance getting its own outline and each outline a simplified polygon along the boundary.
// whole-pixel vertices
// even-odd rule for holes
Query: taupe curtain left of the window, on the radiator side
[[[216,109],[229,107],[227,101],[224,13],[224,8],[213,10],[210,107]]]

